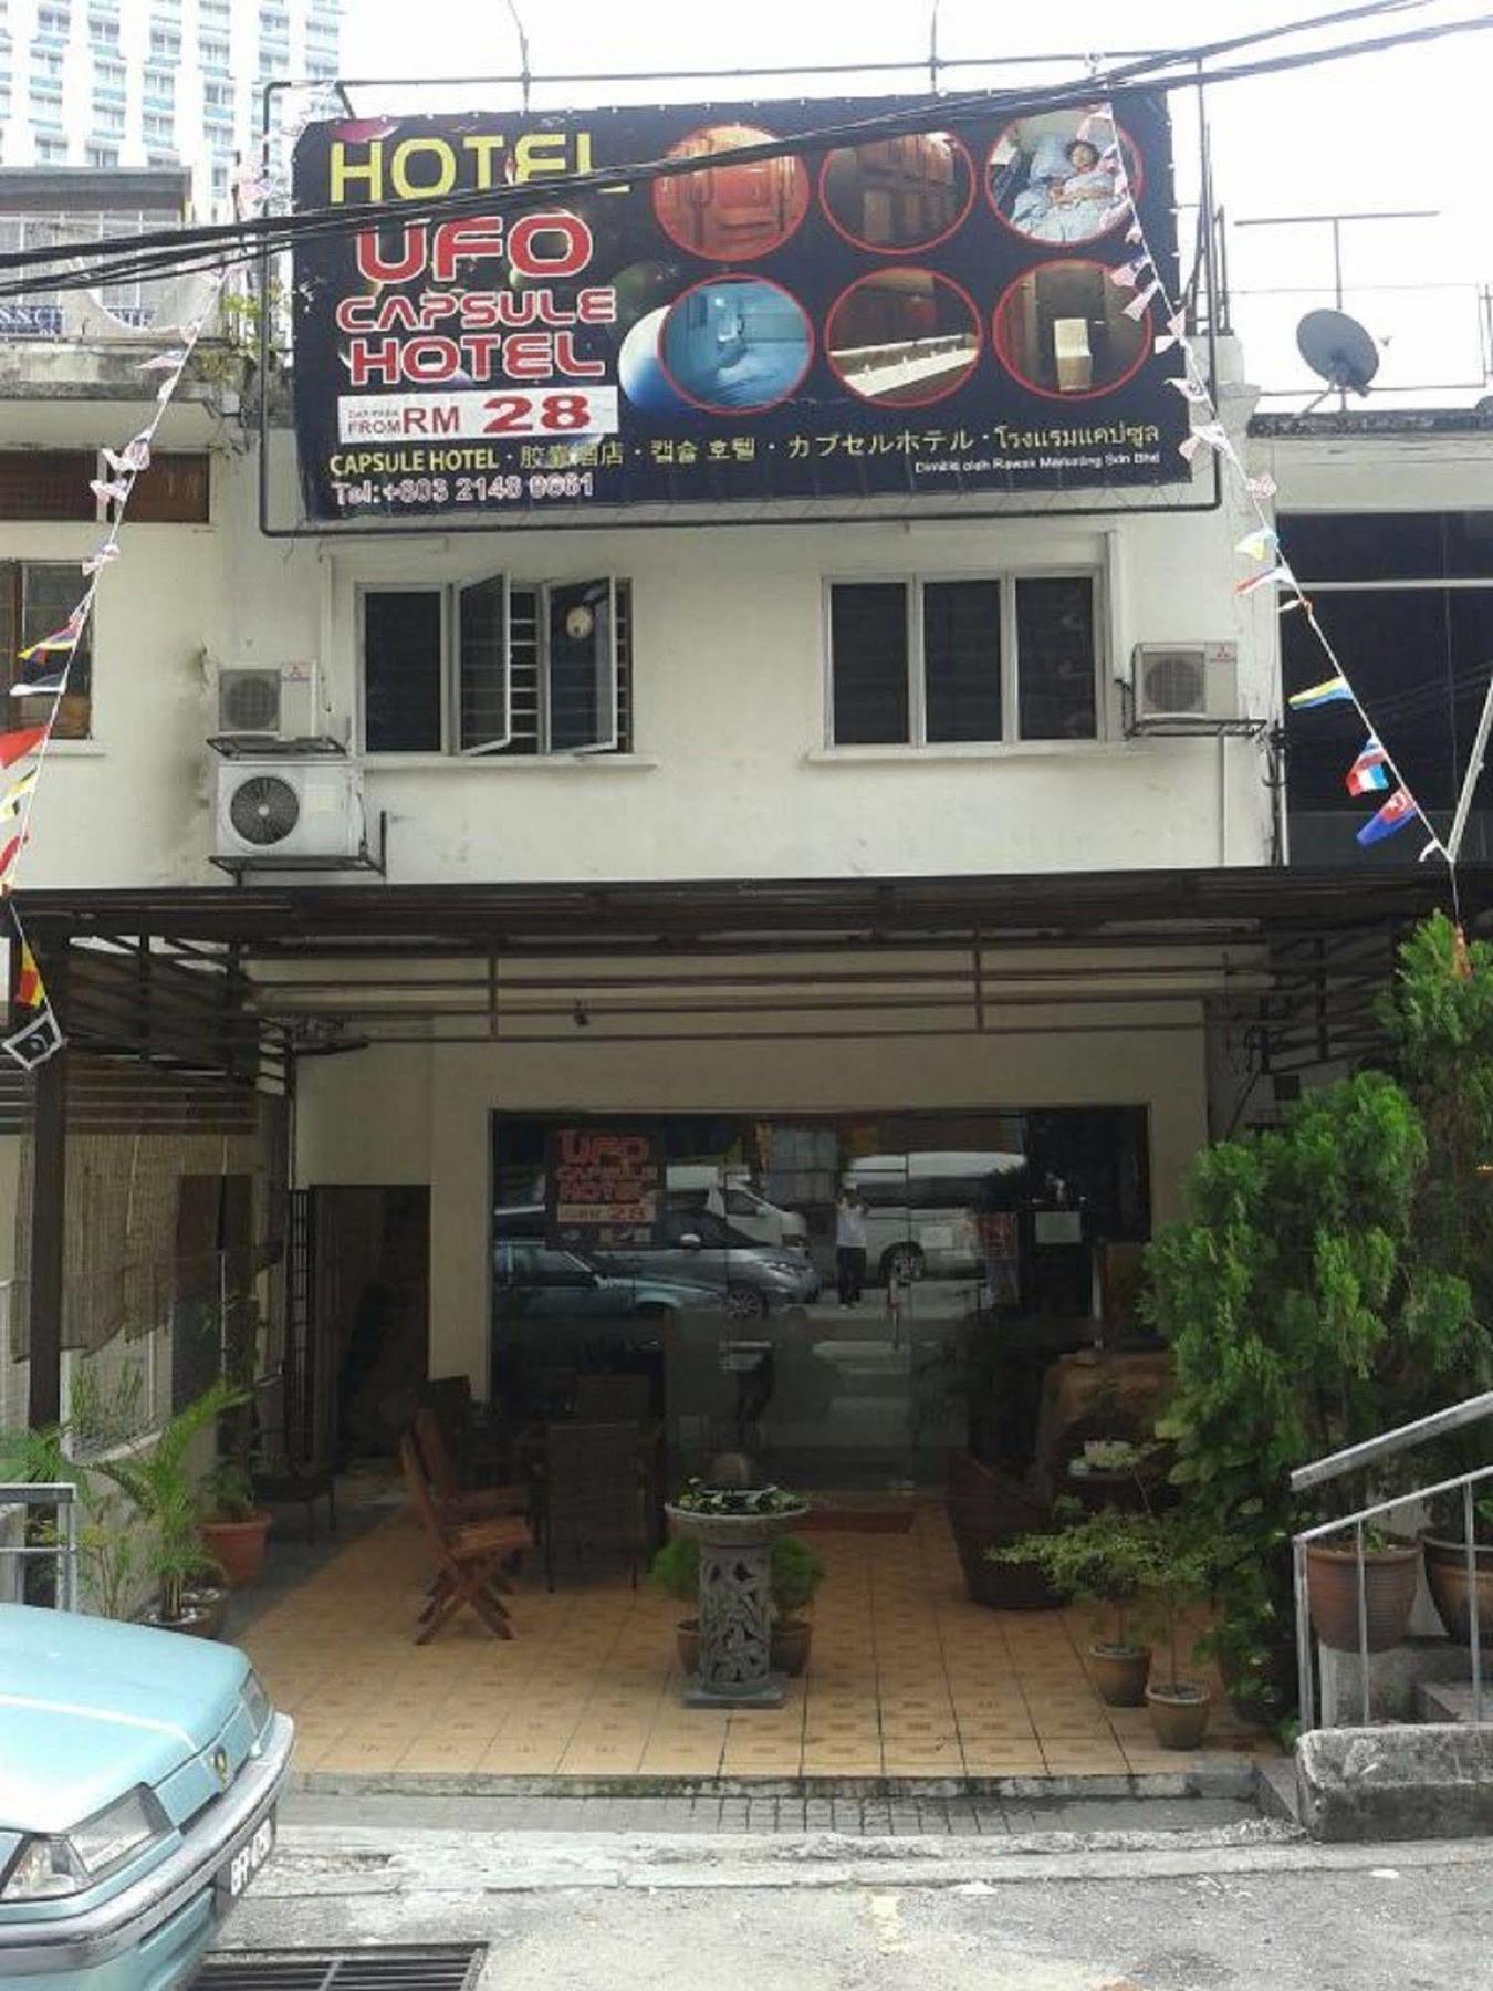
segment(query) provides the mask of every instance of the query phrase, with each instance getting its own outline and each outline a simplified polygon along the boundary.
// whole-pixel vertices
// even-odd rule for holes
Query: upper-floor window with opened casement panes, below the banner
[[[492,575],[364,589],[362,743],[366,753],[627,753],[627,583]]]

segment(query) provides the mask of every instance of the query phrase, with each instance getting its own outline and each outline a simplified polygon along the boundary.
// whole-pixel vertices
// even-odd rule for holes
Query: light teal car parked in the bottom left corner
[[[185,1985],[275,1844],[295,1730],[243,1653],[0,1605],[0,1985]]]

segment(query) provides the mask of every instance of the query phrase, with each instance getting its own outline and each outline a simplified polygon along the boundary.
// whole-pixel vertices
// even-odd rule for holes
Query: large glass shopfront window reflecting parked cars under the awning
[[[1021,1463],[1149,1226],[1145,1107],[500,1113],[494,1390],[543,1420],[645,1378],[677,1475],[934,1483],[977,1424]]]

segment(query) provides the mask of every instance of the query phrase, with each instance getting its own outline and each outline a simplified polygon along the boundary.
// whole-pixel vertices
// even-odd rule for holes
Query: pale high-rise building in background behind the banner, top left
[[[189,167],[229,199],[261,90],[330,80],[340,0],[0,0],[0,163]]]

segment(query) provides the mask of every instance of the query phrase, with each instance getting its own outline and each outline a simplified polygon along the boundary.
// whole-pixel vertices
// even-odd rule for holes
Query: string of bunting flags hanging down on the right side
[[[1254,561],[1258,571],[1246,573],[1240,581],[1236,581],[1234,595],[1244,599],[1270,587],[1276,591],[1282,615],[1300,613],[1306,617],[1306,625],[1320,643],[1322,655],[1328,663],[1328,677],[1324,677],[1318,685],[1308,685],[1306,691],[1292,693],[1288,705],[1296,713],[1314,711],[1318,705],[1352,705],[1364,721],[1364,733],[1368,737],[1358,753],[1358,759],[1348,769],[1344,784],[1350,794],[1386,794],[1386,790],[1391,790],[1358,830],[1358,844],[1362,848],[1370,848],[1372,844],[1384,842],[1386,836],[1393,836],[1397,830],[1403,830],[1407,824],[1419,822],[1427,836],[1421,850],[1421,862],[1429,856],[1443,856],[1451,866],[1451,852],[1437,836],[1429,816],[1415,800],[1409,784],[1395,767],[1393,757],[1370,723],[1370,715],[1354,691],[1342,659],[1332,647],[1326,629],[1316,619],[1312,601],[1302,591],[1290,569],[1290,561],[1280,552],[1280,542],[1268,512],[1268,502],[1276,496],[1274,478],[1248,474],[1238,448],[1234,446],[1234,438],[1228,434],[1228,428],[1218,416],[1218,406],[1212,398],[1212,390],[1208,388],[1206,368],[1186,334],[1186,313],[1173,297],[1167,295],[1157,263],[1151,257],[1151,245],[1147,243],[1145,227],[1141,223],[1141,211],[1135,205],[1129,169],[1125,163],[1125,143],[1115,121],[1113,108],[1109,104],[1095,106],[1095,110],[1081,121],[1077,135],[1099,145],[1105,167],[1115,175],[1115,203],[1129,213],[1125,239],[1137,249],[1137,255],[1131,257],[1129,263],[1111,271],[1113,281],[1123,291],[1135,291],[1135,297],[1125,307],[1125,315],[1141,319],[1155,303],[1165,315],[1165,331],[1157,334],[1155,350],[1171,352],[1173,348],[1178,348],[1184,360],[1184,372],[1173,380],[1173,386],[1188,404],[1194,426],[1176,448],[1188,464],[1200,450],[1212,450],[1220,462],[1236,474],[1244,498],[1254,512],[1254,526],[1238,540],[1234,552],[1244,559]]]

